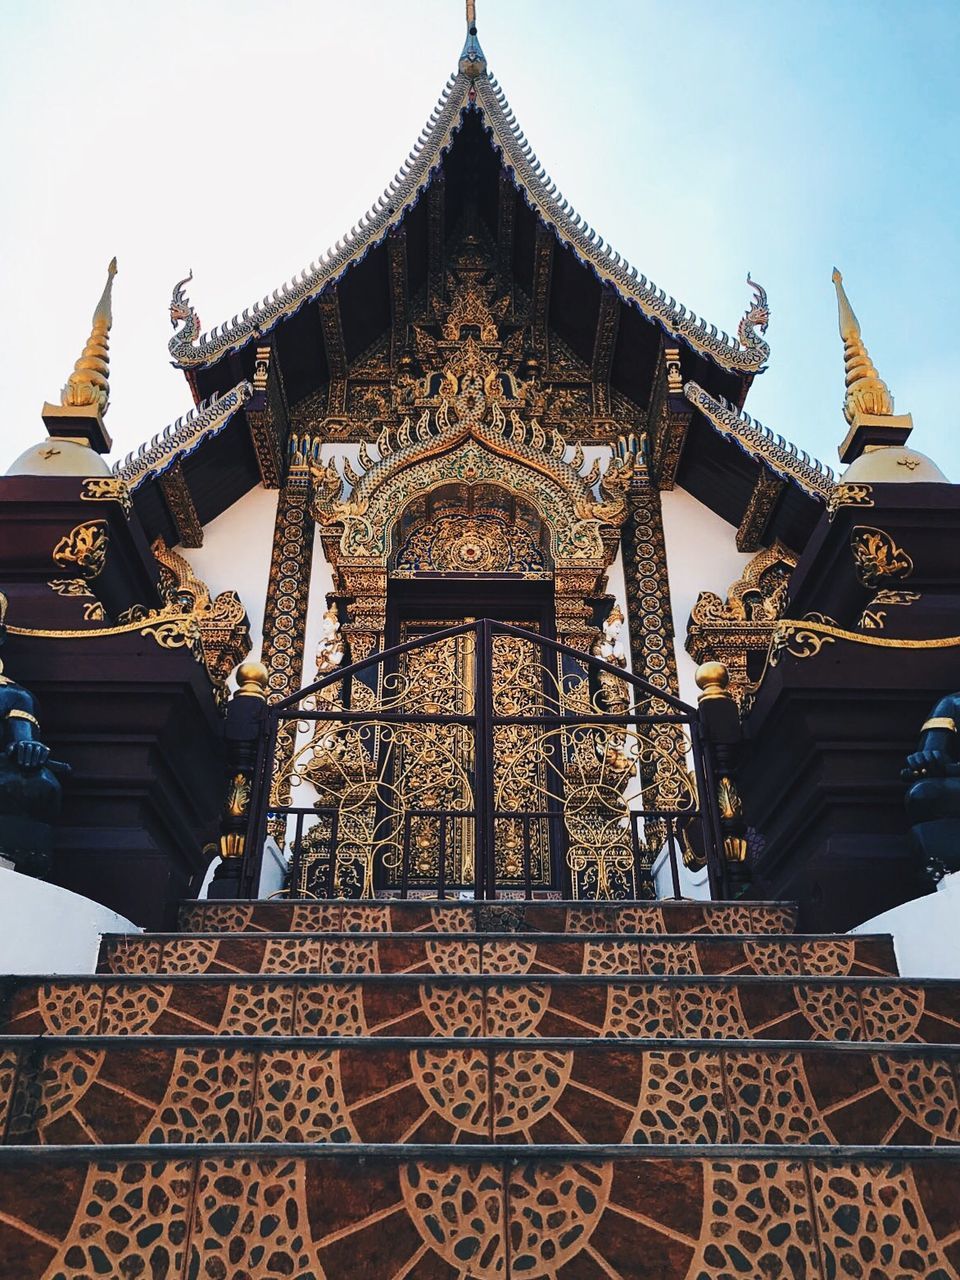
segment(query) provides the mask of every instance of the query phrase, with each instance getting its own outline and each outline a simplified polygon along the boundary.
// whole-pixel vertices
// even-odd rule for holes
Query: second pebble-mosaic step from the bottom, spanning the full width
[[[0,1139],[960,1143],[960,1048],[0,1041]]]

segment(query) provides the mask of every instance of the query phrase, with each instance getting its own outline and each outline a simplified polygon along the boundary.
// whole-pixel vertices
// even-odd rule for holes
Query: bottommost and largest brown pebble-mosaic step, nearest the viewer
[[[947,1148],[8,1148],[0,1275],[952,1280],[959,1202]]]

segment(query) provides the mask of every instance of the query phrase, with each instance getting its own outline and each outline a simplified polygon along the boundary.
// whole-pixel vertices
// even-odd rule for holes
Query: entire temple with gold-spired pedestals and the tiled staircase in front
[[[957,489],[836,270],[842,470],[751,419],[466,10],[193,407],[108,460],[114,261],[0,477],[0,1275],[956,1280]]]

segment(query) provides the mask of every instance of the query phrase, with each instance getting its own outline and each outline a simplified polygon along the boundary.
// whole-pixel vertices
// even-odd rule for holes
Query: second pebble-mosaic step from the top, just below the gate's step
[[[888,936],[108,934],[100,973],[896,974]]]

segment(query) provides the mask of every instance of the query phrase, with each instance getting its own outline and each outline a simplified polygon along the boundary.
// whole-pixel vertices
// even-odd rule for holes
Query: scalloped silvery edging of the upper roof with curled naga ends
[[[481,65],[481,70],[477,65],[465,69],[461,60],[461,70],[447,82],[413,150],[384,193],[333,248],[300,275],[207,333],[201,333],[197,312],[184,293],[189,276],[180,280],[170,303],[170,320],[177,328],[169,343],[173,364],[183,370],[212,365],[250,340],[261,339],[305,303],[319,298],[399,225],[430,186],[463,115],[480,111],[507,173],[527,205],[602,284],[613,287],[625,303],[722,369],[748,376],[760,372],[769,357],[762,337],[769,319],[763,289],[748,278],[754,300],[740,321],[739,337],[731,338],[657,288],[607,244],[557,189],[517,124],[503,90],[486,72],[485,61]]]

